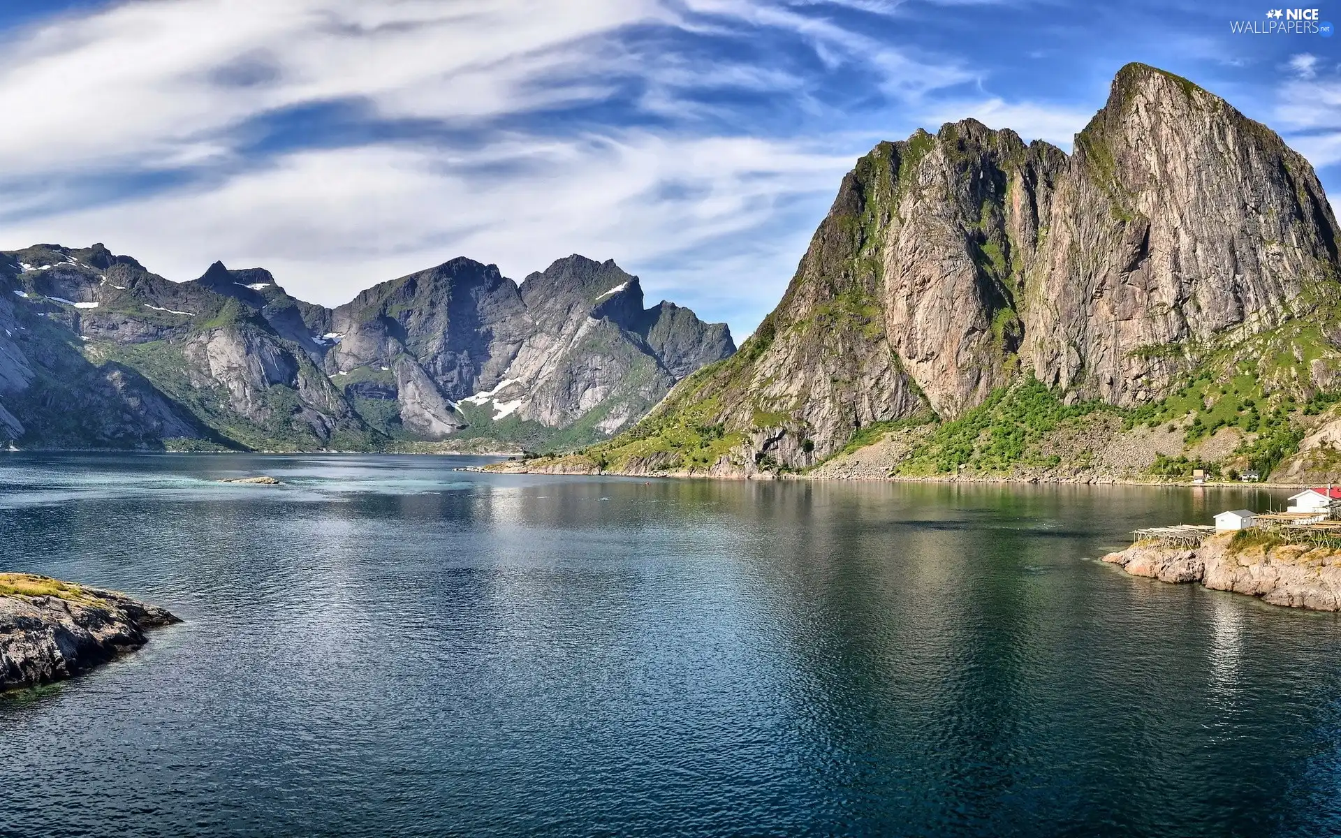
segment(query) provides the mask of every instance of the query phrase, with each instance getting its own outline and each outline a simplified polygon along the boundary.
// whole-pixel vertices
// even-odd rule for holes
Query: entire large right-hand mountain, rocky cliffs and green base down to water
[[[878,143],[739,353],[530,468],[1341,473],[1337,247],[1302,156],[1128,64],[1070,154],[974,119]]]

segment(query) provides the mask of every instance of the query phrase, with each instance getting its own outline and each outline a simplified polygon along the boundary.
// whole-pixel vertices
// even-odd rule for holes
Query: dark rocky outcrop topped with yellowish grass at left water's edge
[[[130,597],[31,574],[0,574],[0,692],[70,678],[181,622]]]

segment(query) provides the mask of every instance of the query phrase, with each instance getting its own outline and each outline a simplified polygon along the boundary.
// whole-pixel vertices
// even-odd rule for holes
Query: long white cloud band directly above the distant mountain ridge
[[[375,282],[465,255],[522,279],[571,252],[625,267],[679,253],[755,251],[752,236],[797,201],[813,227],[854,156],[750,138],[648,133],[542,141],[510,137],[444,166],[432,147],[308,150],[205,189],[153,194],[16,224],[3,247],[106,241],[172,279],[213,259],[264,265],[291,292],[335,304]],[[512,172],[496,177],[499,168]],[[744,243],[731,247],[732,239]],[[783,264],[799,251],[783,255]],[[700,264],[724,308],[776,299],[790,276]],[[675,272],[672,272],[675,274]],[[649,295],[669,283],[646,276]],[[676,302],[685,302],[677,299]]]

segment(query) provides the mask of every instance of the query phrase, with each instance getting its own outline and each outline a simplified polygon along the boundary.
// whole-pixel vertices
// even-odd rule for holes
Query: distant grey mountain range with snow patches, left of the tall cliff
[[[176,283],[102,244],[0,253],[0,441],[24,448],[562,448],[734,351],[577,255],[520,284],[453,259],[326,308],[260,268]]]

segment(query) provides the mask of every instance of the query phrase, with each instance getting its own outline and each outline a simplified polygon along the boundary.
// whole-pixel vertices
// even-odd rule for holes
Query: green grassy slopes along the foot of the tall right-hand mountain
[[[652,461],[657,471],[705,472],[721,457],[730,457],[744,434],[731,433],[712,422],[720,412],[720,394],[704,393],[712,383],[735,378],[731,367],[747,365],[750,349],[747,342],[736,358],[692,375],[633,429],[557,461],[614,472],[625,471],[633,463]],[[1298,449],[1309,417],[1317,417],[1341,402],[1341,390],[1324,390],[1311,383],[1316,361],[1324,365],[1341,361],[1341,353],[1322,339],[1316,322],[1293,320],[1257,335],[1243,346],[1210,353],[1204,358],[1168,397],[1137,409],[1120,409],[1102,402],[1066,405],[1055,392],[1031,375],[1021,378],[1011,386],[998,387],[982,405],[957,420],[936,422],[894,473],[1008,476],[1022,468],[1085,467],[1086,463],[1063,463],[1055,455],[1045,453],[1043,442],[1061,428],[1110,417],[1128,429],[1141,424],[1151,428],[1173,425],[1181,430],[1188,449],[1222,428],[1243,432],[1243,442],[1219,461],[1188,456],[1156,457],[1147,472],[1152,477],[1191,477],[1193,468],[1208,468],[1212,473],[1223,471],[1226,475],[1231,469],[1254,469],[1265,477]],[[758,426],[770,424],[770,417],[755,418]],[[874,444],[890,430],[927,421],[935,420],[915,418],[862,428],[835,456]],[[768,471],[768,464],[762,465]]]

